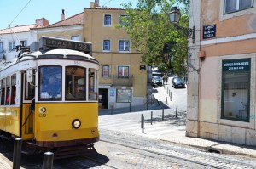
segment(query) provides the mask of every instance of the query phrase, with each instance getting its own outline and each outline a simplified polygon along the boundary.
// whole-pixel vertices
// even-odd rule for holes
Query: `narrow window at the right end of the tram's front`
[[[97,73],[95,69],[89,69],[89,100],[97,100]]]

